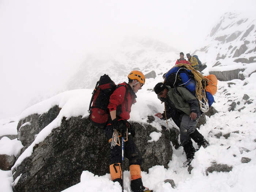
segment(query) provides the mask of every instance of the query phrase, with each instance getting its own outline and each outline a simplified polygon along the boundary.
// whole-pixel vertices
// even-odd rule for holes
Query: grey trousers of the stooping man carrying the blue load
[[[181,144],[185,143],[188,140],[191,140],[189,136],[191,133],[195,132],[197,121],[191,120],[187,114],[184,114],[181,118],[180,123],[180,142]]]

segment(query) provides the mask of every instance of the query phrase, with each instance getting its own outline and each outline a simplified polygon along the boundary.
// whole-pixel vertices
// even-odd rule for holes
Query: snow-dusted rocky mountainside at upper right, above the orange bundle
[[[206,38],[204,48],[194,53],[206,61],[208,68],[203,72],[210,72],[225,81],[243,80],[255,72],[255,26],[256,19],[245,13],[224,14]]]

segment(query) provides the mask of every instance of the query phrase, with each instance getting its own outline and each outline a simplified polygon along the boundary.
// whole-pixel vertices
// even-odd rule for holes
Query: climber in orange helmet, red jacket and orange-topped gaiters
[[[112,181],[122,183],[122,144],[124,138],[124,157],[129,159],[132,192],[153,192],[145,188],[142,183],[140,165],[142,156],[133,141],[135,132],[128,123],[131,106],[136,102],[136,93],[145,84],[145,76],[141,71],[135,70],[128,75],[128,83],[118,86],[109,99],[109,120],[106,127],[106,137],[109,141],[110,157],[109,167]]]

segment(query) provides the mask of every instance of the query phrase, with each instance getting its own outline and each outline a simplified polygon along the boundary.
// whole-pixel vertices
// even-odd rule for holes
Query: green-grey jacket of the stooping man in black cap
[[[189,90],[184,87],[166,87],[168,89],[167,97],[162,98],[158,95],[158,99],[165,102],[168,108],[176,108],[187,115],[194,112],[197,114],[197,117],[200,116],[199,103]]]

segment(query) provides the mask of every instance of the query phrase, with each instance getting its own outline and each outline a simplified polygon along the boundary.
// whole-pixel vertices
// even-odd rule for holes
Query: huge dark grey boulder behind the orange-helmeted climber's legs
[[[53,116],[56,116],[56,113],[53,113]],[[30,119],[30,122],[39,121]],[[21,122],[19,126],[22,127]],[[172,159],[169,132],[159,132],[150,124],[140,125],[134,122],[132,126],[136,127],[134,141],[143,157],[142,171],[148,172],[148,169],[155,165],[163,165],[167,168],[167,164]],[[30,128],[34,130],[33,125]],[[23,130],[19,129],[19,131],[22,135]],[[152,132],[156,132],[161,137],[157,141],[148,142],[151,140],[149,135]],[[31,139],[26,143],[31,143]],[[33,146],[33,153],[29,157],[18,159],[21,163],[12,167],[14,190],[16,192],[63,191],[79,183],[84,170],[99,176],[109,173],[108,158],[109,144],[104,130],[96,129],[88,117],[68,119],[63,117],[59,127],[53,129],[42,142]],[[128,170],[127,159],[124,169]]]

